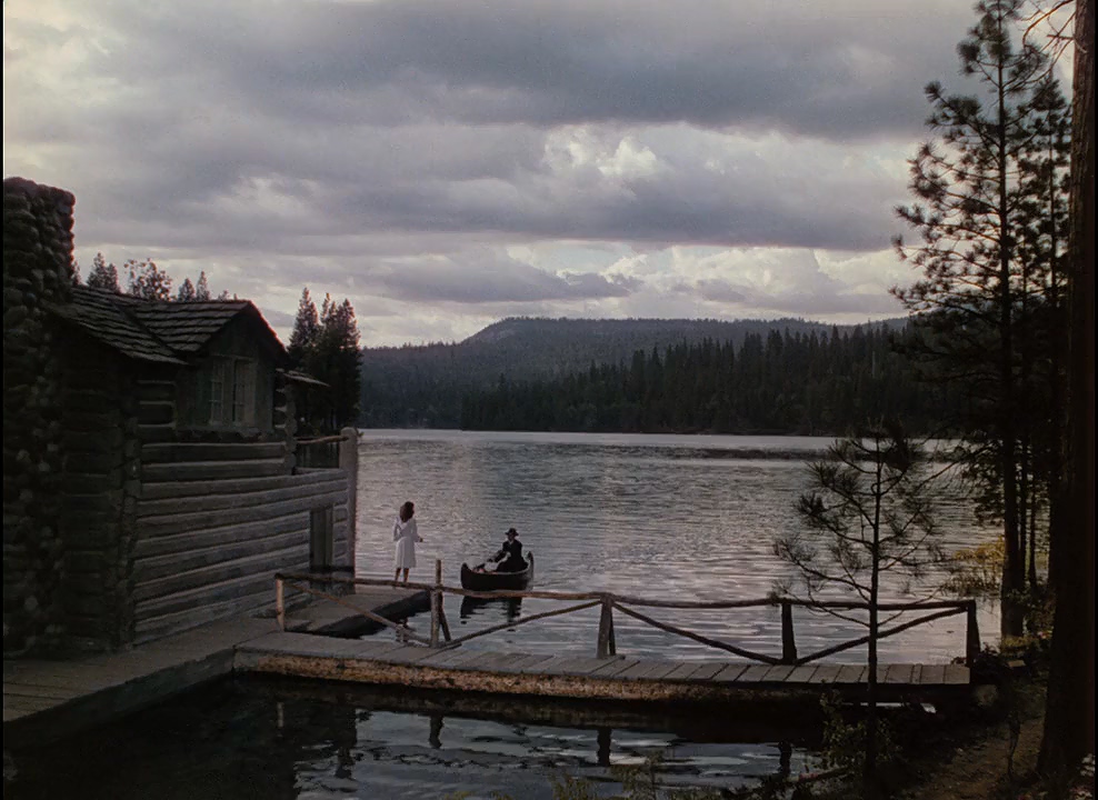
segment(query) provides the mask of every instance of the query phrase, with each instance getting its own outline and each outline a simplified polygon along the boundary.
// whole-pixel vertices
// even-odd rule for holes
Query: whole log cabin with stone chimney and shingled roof
[[[276,570],[353,571],[353,432],[338,464],[297,463],[316,381],[247,300],[74,284],[72,204],[4,181],[4,657],[117,650],[270,606]]]

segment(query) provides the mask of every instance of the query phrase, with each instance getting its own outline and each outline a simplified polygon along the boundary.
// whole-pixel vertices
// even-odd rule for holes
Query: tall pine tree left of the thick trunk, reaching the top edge
[[[954,420],[967,443],[969,476],[985,509],[1002,521],[1002,633],[1020,636],[1025,591],[1021,548],[1027,498],[1019,448],[1019,307],[1026,290],[1018,241],[1025,220],[1019,154],[1032,137],[1035,90],[1047,60],[1018,46],[1022,0],[986,0],[958,46],[961,72],[976,77],[989,102],[927,87],[928,124],[940,138],[911,160],[916,202],[897,209],[921,242],[902,258],[924,278],[895,294],[920,314],[925,337],[909,352],[924,374],[967,387],[964,414]]]

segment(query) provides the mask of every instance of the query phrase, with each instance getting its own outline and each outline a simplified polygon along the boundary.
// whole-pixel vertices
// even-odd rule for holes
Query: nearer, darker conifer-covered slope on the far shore
[[[748,333],[739,348],[706,339],[555,380],[500,381],[465,397],[461,427],[838,434],[896,417],[926,431],[939,402],[915,384],[884,328],[822,337],[775,330]]]

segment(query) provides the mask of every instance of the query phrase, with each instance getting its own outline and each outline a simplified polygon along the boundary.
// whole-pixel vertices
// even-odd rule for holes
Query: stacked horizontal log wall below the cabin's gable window
[[[311,512],[332,508],[350,563],[343,470],[291,474],[285,442],[146,442],[133,549],[133,641],[270,607],[277,570],[310,568]]]

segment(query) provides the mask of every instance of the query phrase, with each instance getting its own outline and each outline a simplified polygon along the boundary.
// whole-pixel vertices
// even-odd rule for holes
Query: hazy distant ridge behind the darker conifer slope
[[[731,342],[773,330],[829,337],[855,328],[897,330],[906,319],[832,326],[802,319],[549,319],[508,318],[453,343],[365,348],[360,423],[368,428],[457,428],[461,396],[500,380],[557,378],[591,363],[618,363],[633,352],[680,343]]]

